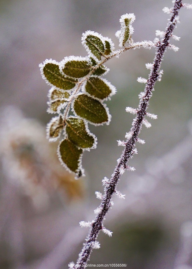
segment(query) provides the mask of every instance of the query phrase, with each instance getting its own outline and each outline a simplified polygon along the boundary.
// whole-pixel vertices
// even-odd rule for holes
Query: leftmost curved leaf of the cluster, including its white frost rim
[[[39,65],[42,78],[49,84],[57,88],[70,90],[75,87],[77,80],[65,77],[59,71],[59,63],[55,60],[46,59]]]

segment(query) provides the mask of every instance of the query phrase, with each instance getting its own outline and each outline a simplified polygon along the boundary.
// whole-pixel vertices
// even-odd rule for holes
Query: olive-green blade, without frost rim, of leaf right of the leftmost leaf
[[[62,71],[70,77],[85,77],[90,72],[90,64],[87,61],[68,61],[64,64]]]

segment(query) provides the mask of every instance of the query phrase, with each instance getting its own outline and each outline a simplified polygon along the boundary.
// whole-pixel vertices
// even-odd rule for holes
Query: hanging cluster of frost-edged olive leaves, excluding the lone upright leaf
[[[50,59],[39,65],[43,79],[52,86],[47,111],[59,114],[48,123],[47,138],[56,141],[63,133],[64,139],[58,147],[59,160],[76,178],[84,173],[83,151],[96,148],[97,138],[90,133],[88,123],[109,124],[110,114],[104,101],[116,92],[101,77],[108,71],[103,63],[114,51],[113,42],[87,31],[82,44],[87,57],[69,56],[61,62]]]

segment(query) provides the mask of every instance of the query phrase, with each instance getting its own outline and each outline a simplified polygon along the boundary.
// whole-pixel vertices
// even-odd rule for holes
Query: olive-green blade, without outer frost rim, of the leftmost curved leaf
[[[64,90],[72,89],[77,82],[72,78],[64,77],[59,71],[59,65],[50,62],[44,65],[43,74],[50,84]]]

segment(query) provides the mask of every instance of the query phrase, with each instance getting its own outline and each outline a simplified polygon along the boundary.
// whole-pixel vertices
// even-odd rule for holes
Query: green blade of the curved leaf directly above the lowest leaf
[[[83,120],[78,118],[68,118],[66,120],[66,132],[68,139],[80,148],[91,148],[95,143],[93,135],[88,134]]]

